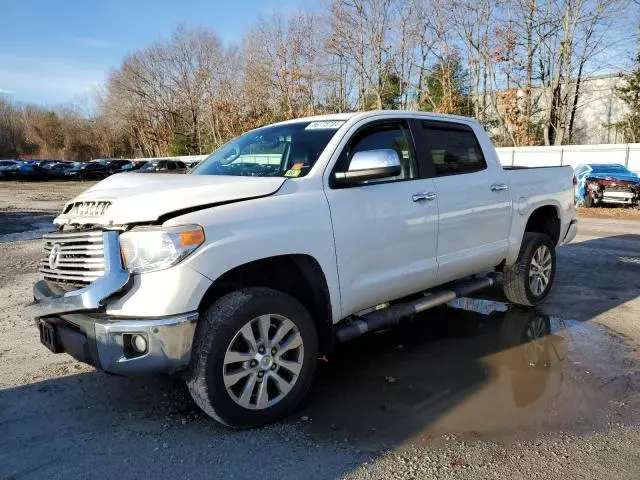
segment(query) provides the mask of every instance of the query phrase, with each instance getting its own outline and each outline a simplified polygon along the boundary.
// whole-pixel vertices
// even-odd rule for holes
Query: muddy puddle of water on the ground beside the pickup
[[[300,415],[318,436],[378,446],[605,428],[638,403],[629,352],[594,324],[460,299],[340,346]]]

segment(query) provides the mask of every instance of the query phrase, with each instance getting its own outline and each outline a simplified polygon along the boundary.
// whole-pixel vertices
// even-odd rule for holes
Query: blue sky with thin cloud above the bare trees
[[[91,98],[110,69],[178,25],[239,42],[260,15],[304,0],[0,0],[0,94],[55,105]]]

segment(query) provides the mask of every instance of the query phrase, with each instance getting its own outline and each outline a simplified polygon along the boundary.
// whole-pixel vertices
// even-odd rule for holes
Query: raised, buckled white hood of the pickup
[[[67,203],[54,223],[154,222],[172,212],[271,195],[285,180],[284,177],[118,173]]]

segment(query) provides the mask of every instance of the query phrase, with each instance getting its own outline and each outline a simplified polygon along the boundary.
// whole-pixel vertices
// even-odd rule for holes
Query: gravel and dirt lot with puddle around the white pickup
[[[290,419],[231,431],[176,379],[39,344],[20,239],[88,185],[0,183],[0,478],[640,478],[640,222],[581,219],[538,311],[485,292],[363,337]],[[523,344],[532,319],[549,335]]]

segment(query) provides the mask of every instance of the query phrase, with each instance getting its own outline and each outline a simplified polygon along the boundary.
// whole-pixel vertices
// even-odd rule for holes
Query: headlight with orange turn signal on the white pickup
[[[120,235],[120,252],[131,273],[153,272],[181,262],[203,243],[199,225],[138,227]]]

